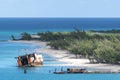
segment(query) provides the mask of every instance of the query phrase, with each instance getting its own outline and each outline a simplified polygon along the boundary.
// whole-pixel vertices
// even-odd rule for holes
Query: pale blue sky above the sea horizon
[[[120,17],[120,0],[0,0],[0,17]]]

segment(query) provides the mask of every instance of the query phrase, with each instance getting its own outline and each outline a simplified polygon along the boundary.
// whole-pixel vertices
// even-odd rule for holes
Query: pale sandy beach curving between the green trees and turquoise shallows
[[[120,65],[113,64],[91,64],[88,59],[76,59],[75,55],[70,54],[66,50],[55,50],[47,46],[47,42],[41,41],[14,41],[27,44],[35,44],[45,46],[44,48],[38,49],[38,53],[49,54],[53,57],[56,57],[58,61],[66,62],[66,64],[61,64],[58,66],[78,66],[78,67],[87,67],[87,68],[96,68],[96,69],[107,69],[111,71],[120,71]],[[57,66],[57,65],[52,65]]]

